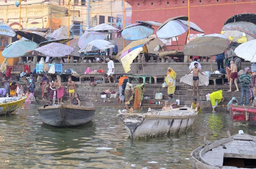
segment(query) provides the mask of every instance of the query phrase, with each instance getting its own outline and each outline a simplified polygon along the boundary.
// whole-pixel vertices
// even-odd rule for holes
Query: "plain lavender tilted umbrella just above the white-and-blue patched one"
[[[108,31],[86,31],[78,40],[78,47],[81,49],[93,40],[104,40]]]

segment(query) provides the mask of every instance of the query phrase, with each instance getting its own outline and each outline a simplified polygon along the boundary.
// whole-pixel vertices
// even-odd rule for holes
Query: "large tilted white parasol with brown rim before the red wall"
[[[204,31],[200,29],[195,23],[190,22],[190,29],[197,32]],[[188,21],[186,20],[170,20],[167,23],[163,23],[163,26],[157,29],[157,37],[161,39],[169,39],[171,37],[176,37],[181,35],[189,30]]]

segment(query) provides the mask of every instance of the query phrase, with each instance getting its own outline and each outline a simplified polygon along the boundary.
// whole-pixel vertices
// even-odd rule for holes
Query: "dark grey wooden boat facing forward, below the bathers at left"
[[[96,109],[64,105],[39,107],[38,112],[44,124],[53,127],[84,126],[93,120]]]

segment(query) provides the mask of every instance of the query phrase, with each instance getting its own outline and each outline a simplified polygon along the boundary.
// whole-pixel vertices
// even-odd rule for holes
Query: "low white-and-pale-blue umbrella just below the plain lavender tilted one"
[[[86,46],[84,46],[82,49],[80,49],[78,52],[91,52],[91,51],[97,51],[97,50],[105,50],[109,48],[113,48],[116,45],[113,41],[107,41],[107,40],[93,40],[90,43],[88,43]]]

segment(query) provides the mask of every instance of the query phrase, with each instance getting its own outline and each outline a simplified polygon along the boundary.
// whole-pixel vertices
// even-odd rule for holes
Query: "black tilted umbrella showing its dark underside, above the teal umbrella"
[[[41,43],[44,41],[47,41],[46,38],[41,36],[38,32],[33,32],[33,31],[16,31],[17,34],[19,34],[22,37],[25,37],[28,40],[32,40],[35,43]],[[40,32],[43,33],[43,32]]]

